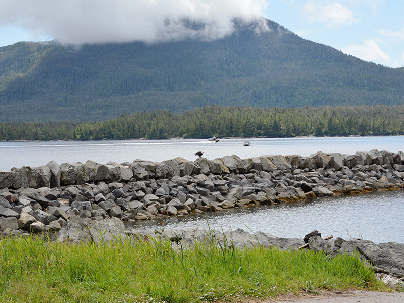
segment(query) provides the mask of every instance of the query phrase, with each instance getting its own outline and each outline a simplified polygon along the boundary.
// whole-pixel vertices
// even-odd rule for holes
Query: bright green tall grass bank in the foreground
[[[174,250],[169,241],[66,245],[35,237],[0,240],[1,302],[198,302],[286,292],[385,290],[350,256],[222,248]]]

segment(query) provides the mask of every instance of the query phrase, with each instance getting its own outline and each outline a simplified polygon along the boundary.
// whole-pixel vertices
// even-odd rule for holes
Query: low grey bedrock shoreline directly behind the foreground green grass
[[[126,228],[118,218],[106,218],[102,221],[83,221],[73,216],[58,233],[57,240],[66,243],[108,243],[132,238],[154,243],[155,240],[169,240],[174,249],[191,248],[195,243],[207,243],[219,247],[248,248],[258,246],[283,250],[312,250],[323,252],[325,256],[334,258],[338,255],[352,255],[363,260],[377,274],[380,280],[393,288],[404,287],[404,244],[380,243],[369,240],[344,240],[337,237],[323,239],[317,230],[304,238],[282,238],[264,232],[251,234],[242,229],[235,231],[205,230],[200,228],[173,229],[130,229]],[[154,240],[152,240],[154,239]]]

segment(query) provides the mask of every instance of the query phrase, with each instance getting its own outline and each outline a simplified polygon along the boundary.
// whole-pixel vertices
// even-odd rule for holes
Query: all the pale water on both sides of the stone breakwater
[[[218,143],[206,140],[0,142],[0,170],[23,165],[35,167],[51,160],[59,164],[87,160],[121,163],[137,158],[163,161],[178,156],[194,160],[194,153],[198,150],[205,151],[204,157],[209,159],[232,154],[248,158],[291,154],[308,156],[320,150],[342,154],[374,148],[395,153],[404,150],[404,137],[274,138],[249,141],[249,147],[243,146],[244,139],[221,139]],[[404,191],[231,210],[174,218],[164,224],[170,227],[207,227],[207,222],[214,229],[250,228],[284,237],[301,238],[311,230],[318,229],[323,235],[334,237],[363,236],[374,242],[404,243]],[[162,222],[154,221],[153,224],[161,225]]]

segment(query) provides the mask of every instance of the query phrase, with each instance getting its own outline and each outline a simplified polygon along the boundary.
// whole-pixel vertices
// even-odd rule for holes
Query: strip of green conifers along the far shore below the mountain
[[[0,140],[167,139],[404,134],[404,105],[322,108],[206,106],[98,122],[0,122]]]

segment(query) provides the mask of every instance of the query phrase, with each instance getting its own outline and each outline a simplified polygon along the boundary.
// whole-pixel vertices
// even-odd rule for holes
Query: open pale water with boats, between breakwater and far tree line
[[[182,157],[195,160],[196,151],[214,159],[226,155],[240,158],[263,155],[309,156],[316,151],[355,154],[356,151],[386,149],[404,150],[404,137],[339,137],[339,138],[272,138],[207,140],[126,140],[126,141],[63,141],[63,142],[0,142],[0,170],[12,167],[45,165],[49,161],[74,163],[93,160],[99,163],[132,162],[135,159],[163,161]]]

